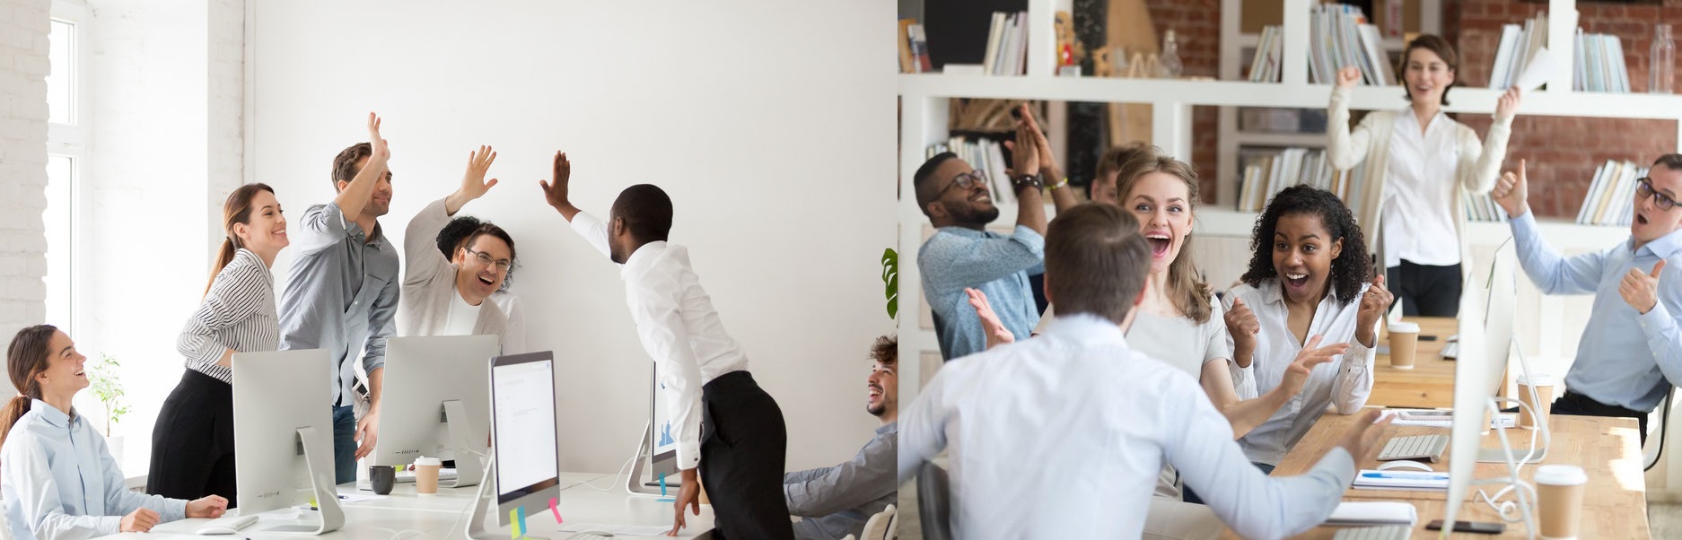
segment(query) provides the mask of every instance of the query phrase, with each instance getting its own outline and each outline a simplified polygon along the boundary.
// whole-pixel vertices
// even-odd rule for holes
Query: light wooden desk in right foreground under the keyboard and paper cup
[[[1285,459],[1273,471],[1275,476],[1300,474],[1314,466],[1327,449],[1354,422],[1354,416],[1327,414],[1309,431],[1297,447],[1285,454]],[[1635,419],[1606,419],[1583,416],[1551,416],[1552,444],[1542,464],[1576,464],[1588,473],[1588,488],[1583,495],[1583,530],[1579,538],[1648,538],[1647,525],[1647,479],[1642,474],[1642,447],[1635,432]],[[1411,436],[1443,432],[1441,427],[1393,426],[1388,436]],[[1507,431],[1509,441],[1515,447],[1529,444],[1529,431]],[[1499,447],[1494,432],[1484,436],[1485,447]],[[1381,442],[1383,444],[1383,442]],[[1378,468],[1378,461],[1359,459],[1357,468]],[[1441,463],[1435,463],[1438,471],[1448,469],[1448,453]],[[1477,478],[1495,478],[1505,474],[1505,464],[1478,463]],[[1536,464],[1527,464],[1519,476],[1526,481],[1536,473]],[[1500,521],[1489,505],[1477,500],[1477,488],[1494,493],[1497,488],[1472,486],[1467,501],[1460,506],[1458,520]],[[1415,525],[1415,538],[1436,538],[1436,532],[1425,528],[1425,523],[1440,520],[1445,511],[1447,493],[1443,491],[1386,491],[1386,490],[1347,490],[1344,500],[1401,500],[1413,503],[1420,513]],[[1299,538],[1330,538],[1336,528],[1320,527]],[[1490,538],[1490,535],[1458,533],[1455,538]],[[1507,525],[1502,537],[1522,538],[1524,527]]]

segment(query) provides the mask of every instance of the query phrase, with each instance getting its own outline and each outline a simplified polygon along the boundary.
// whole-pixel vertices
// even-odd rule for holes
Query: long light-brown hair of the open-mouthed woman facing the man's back
[[[1115,175],[1115,199],[1125,207],[1127,193],[1134,190],[1139,178],[1147,173],[1167,173],[1186,183],[1186,204],[1196,215],[1198,205],[1198,172],[1186,161],[1162,155],[1161,148],[1142,148],[1132,160],[1122,165]],[[1179,256],[1167,266],[1167,298],[1181,315],[1193,321],[1209,321],[1209,284],[1198,273],[1198,264],[1191,257],[1191,236],[1179,244]]]

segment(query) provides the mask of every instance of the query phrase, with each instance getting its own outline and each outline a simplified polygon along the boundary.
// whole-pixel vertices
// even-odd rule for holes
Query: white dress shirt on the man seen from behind
[[[1137,538],[1162,464],[1238,535],[1280,538],[1324,521],[1356,473],[1339,447],[1262,474],[1196,380],[1092,315],[947,362],[900,416],[900,481],[942,449],[954,538]]]

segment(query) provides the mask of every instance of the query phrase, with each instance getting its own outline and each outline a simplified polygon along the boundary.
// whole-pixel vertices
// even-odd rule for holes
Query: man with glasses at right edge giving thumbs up
[[[1566,372],[1552,414],[1633,417],[1647,444],[1647,416],[1682,384],[1682,279],[1662,279],[1667,261],[1682,261],[1682,155],[1653,161],[1637,180],[1630,239],[1601,252],[1564,257],[1536,229],[1526,202],[1524,161],[1495,190],[1512,217],[1519,264],[1547,294],[1595,293],[1583,341]]]

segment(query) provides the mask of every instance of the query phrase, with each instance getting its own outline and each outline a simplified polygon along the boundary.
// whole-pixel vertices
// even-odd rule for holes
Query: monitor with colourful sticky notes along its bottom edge
[[[491,358],[491,426],[498,523],[508,525],[508,511],[520,506],[526,515],[548,510],[560,493],[550,352]]]

